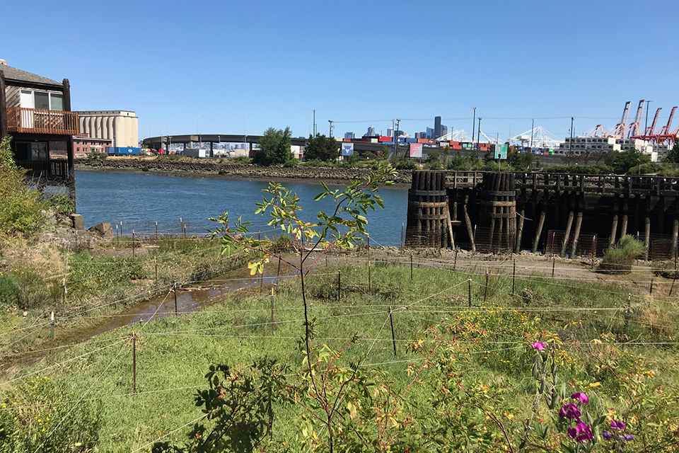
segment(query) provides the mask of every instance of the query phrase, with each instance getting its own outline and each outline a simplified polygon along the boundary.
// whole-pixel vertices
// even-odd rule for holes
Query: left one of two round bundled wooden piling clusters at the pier
[[[454,247],[446,173],[414,171],[408,191],[407,247]]]

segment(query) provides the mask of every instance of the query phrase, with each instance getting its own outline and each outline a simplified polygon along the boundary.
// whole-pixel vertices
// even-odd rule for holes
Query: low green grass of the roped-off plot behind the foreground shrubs
[[[412,380],[408,375],[409,361],[415,370],[422,363],[422,354],[412,345],[420,339],[426,344],[432,332],[428,328],[441,326],[442,322],[475,326],[458,338],[465,350],[462,379],[506,389],[506,397],[517,408],[512,423],[519,425],[521,418],[530,417],[535,391],[535,381],[530,377],[533,350],[525,333],[538,338],[547,329],[561,337],[565,357],[561,379],[578,388],[600,382],[600,396],[593,400],[593,408],[598,411],[619,404],[615,398],[622,389],[606,369],[597,367],[591,354],[599,350],[591,340],[612,336],[615,340],[632,338],[635,343],[673,343],[676,334],[672,326],[677,321],[677,311],[671,304],[635,296],[625,336],[624,311],[617,309],[625,308],[627,292],[618,287],[577,282],[554,285],[550,279],[538,277],[517,281],[516,295],[512,297],[511,277],[492,276],[488,301],[484,303],[484,275],[415,269],[411,281],[410,268],[375,263],[368,292],[365,265],[344,266],[341,271],[340,300],[337,268],[324,268],[308,277],[309,316],[314,319],[316,345],[326,343],[330,348],[341,349],[356,335],[355,345],[347,348],[342,357],[344,366],[369,352],[364,365],[372,364],[374,369],[388,372],[393,390],[400,393]],[[468,308],[468,278],[472,279],[472,308]],[[269,289],[258,294],[258,289],[253,288],[233,293],[203,311],[105,333],[0,381],[36,372],[41,379],[50,377],[65,394],[100,403],[99,451],[134,451],[199,417],[192,395],[205,387],[204,374],[210,365],[227,364],[238,372],[247,372],[255,360],[267,355],[290,365],[292,372],[301,371],[303,354],[298,340],[303,334],[303,311],[297,288],[298,277],[290,277],[275,288],[273,331]],[[390,307],[396,357],[388,318]],[[656,316],[670,316],[666,319],[671,323],[668,329],[648,328],[651,308]],[[136,344],[136,395],[132,394],[132,343],[126,341],[132,331],[141,331]],[[470,337],[481,331],[487,335]],[[106,345],[110,347],[98,350]],[[88,354],[94,350],[98,352]],[[82,357],[66,362],[79,356]],[[631,345],[615,352],[615,357],[620,373],[637,369],[640,357],[644,357],[643,368],[656,370],[651,385],[663,385],[668,393],[675,391],[675,347]],[[52,367],[53,364],[62,365]],[[16,382],[22,381],[19,378]],[[423,370],[419,381],[421,384],[412,386],[408,396],[422,406],[416,413],[426,413],[431,411],[426,407],[426,398],[441,381],[434,369]],[[73,404],[54,403],[67,407]],[[276,438],[294,444],[298,406],[276,408],[275,414]],[[163,440],[181,442],[188,430],[182,428]],[[150,451],[150,447],[144,451]]]

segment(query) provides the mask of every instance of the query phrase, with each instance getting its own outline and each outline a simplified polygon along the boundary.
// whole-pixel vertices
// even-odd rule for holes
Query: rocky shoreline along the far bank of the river
[[[325,180],[346,181],[368,176],[371,168],[269,166],[252,164],[226,164],[215,161],[171,161],[161,159],[76,159],[76,170],[109,173],[148,172],[166,176],[193,178],[248,179],[248,180]],[[410,185],[410,170],[399,171],[394,182]]]

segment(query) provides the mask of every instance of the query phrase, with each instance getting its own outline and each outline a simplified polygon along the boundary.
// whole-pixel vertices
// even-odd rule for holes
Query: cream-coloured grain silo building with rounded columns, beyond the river
[[[78,112],[81,134],[111,139],[114,147],[139,147],[139,118],[127,110]]]

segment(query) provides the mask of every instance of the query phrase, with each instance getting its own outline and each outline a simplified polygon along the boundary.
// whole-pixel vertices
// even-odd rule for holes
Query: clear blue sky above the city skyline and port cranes
[[[3,5],[0,58],[71,81],[74,110],[134,110],[139,137],[414,134],[565,137],[613,126],[625,101],[679,105],[676,0],[42,1]],[[199,117],[198,117],[199,115]],[[564,117],[562,119],[548,119]],[[385,121],[388,120],[388,121]],[[347,121],[342,123],[340,121]],[[349,122],[356,121],[356,122]],[[643,122],[643,121],[642,121]],[[197,125],[197,123],[199,123]],[[679,115],[675,127],[679,125]]]

